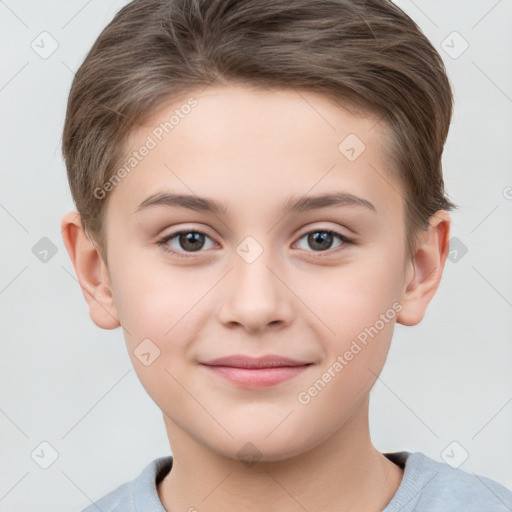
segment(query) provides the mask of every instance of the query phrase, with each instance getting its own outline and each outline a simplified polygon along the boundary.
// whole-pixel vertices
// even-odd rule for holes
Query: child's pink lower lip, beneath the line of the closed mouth
[[[309,365],[278,366],[276,368],[234,368],[232,366],[204,365],[211,372],[233,384],[247,388],[266,388],[292,379],[302,373]]]

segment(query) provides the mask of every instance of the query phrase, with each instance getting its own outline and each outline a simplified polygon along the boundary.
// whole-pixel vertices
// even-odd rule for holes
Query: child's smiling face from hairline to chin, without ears
[[[191,96],[197,105],[180,109]],[[159,130],[176,109],[172,131]],[[354,135],[343,142],[349,134],[364,143],[362,153]],[[251,442],[277,460],[335,433],[363,431],[412,278],[403,188],[385,160],[382,124],[318,94],[230,86],[185,96],[130,140],[131,150],[151,148],[109,192],[109,276],[130,357],[171,440],[185,435],[230,457]],[[209,198],[226,212],[183,201],[137,211],[165,193],[191,196],[191,205]],[[333,193],[373,208],[285,213],[292,198]],[[207,236],[157,244],[197,230]],[[251,386],[203,364],[269,354],[309,365]]]

